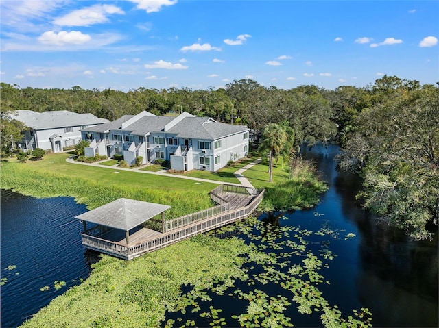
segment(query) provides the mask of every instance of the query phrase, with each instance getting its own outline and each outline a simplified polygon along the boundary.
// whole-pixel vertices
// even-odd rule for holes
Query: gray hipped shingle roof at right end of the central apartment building
[[[179,138],[215,140],[248,130],[250,129],[243,125],[219,123],[206,117],[187,117],[171,127],[167,133],[176,134]]]

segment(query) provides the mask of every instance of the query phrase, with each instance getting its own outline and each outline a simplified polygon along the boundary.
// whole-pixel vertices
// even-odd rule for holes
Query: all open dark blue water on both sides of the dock
[[[322,273],[331,282],[323,284],[322,292],[342,314],[368,307],[375,327],[438,327],[438,234],[429,242],[413,242],[403,231],[379,224],[361,210],[355,200],[361,181],[335,170],[333,157],[338,151],[331,145],[302,150],[316,162],[329,190],[310,210],[282,213],[279,224],[333,231],[324,238],[337,257]],[[1,191],[1,278],[8,279],[1,286],[1,327],[20,325],[80,278],[88,277],[96,256],[80,244],[82,225],[74,216],[83,212],[85,206],[68,197],[35,199]],[[346,238],[348,234],[352,237]],[[313,237],[309,238],[312,244]],[[10,265],[16,267],[8,270]],[[56,290],[55,281],[65,281],[66,286]],[[40,292],[43,286],[50,289]],[[270,283],[261,288],[268,294],[278,292]],[[214,293],[211,297],[211,304],[222,308],[224,317],[246,310],[235,307],[244,306],[242,302]],[[299,315],[294,304],[285,313],[294,327],[318,327],[319,315]],[[167,317],[178,318],[178,314]],[[198,314],[186,317],[204,324]]]

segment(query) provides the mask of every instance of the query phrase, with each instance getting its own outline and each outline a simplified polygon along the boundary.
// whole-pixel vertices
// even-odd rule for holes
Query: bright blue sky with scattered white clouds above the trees
[[[0,79],[25,88],[439,81],[439,1],[1,0]]]

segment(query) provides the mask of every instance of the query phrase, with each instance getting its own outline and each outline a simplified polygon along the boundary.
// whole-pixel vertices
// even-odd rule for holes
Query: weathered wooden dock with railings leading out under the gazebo
[[[207,210],[174,218],[158,229],[139,227],[130,235],[127,244],[123,231],[107,229],[98,234],[90,229],[82,236],[82,244],[100,253],[132,260],[145,253],[190,238],[205,231],[228,225],[249,216],[263,199],[264,190],[222,184],[211,191],[211,199],[218,205]],[[155,223],[156,224],[156,223]]]

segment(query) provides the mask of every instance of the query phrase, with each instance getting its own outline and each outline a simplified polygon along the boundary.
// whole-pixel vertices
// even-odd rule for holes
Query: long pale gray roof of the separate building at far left
[[[99,118],[93,114],[78,114],[68,110],[55,110],[49,112],[34,112],[33,110],[16,110],[12,115],[17,121],[25,123],[32,129],[54,129],[58,127],[78,127],[106,123],[106,118]]]

